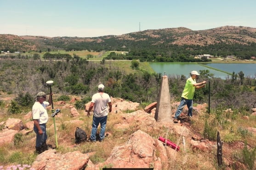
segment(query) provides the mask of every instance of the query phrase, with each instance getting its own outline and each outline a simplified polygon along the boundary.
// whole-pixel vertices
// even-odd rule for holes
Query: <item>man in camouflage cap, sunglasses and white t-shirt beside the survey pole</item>
[[[51,97],[46,101],[46,93],[39,92],[36,94],[36,102],[32,107],[32,115],[34,121],[34,132],[36,133],[35,149],[38,154],[48,150],[46,139],[46,123],[48,114],[46,107],[51,105]]]

